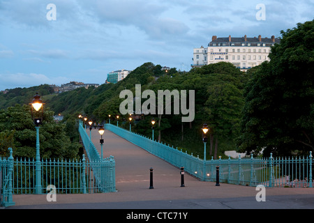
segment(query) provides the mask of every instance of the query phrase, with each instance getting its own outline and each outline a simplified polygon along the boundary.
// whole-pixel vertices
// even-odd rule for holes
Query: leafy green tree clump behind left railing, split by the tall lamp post
[[[27,105],[15,105],[0,111],[0,153],[13,147],[15,157],[36,157],[36,130]],[[66,125],[55,123],[53,112],[46,109],[40,128],[40,157],[74,159],[80,144],[71,143]],[[3,143],[4,141],[4,143]]]

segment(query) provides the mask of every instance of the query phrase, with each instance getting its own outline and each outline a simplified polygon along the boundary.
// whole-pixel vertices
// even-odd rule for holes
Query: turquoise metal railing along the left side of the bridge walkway
[[[116,179],[114,157],[110,156],[101,159],[96,147],[89,139],[82,122],[79,124],[79,132],[87,157],[90,161],[90,167],[93,171],[96,185],[101,188],[101,192],[115,192]]]

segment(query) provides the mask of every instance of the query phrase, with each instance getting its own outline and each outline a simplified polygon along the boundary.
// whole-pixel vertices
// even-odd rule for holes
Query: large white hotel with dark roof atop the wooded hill
[[[278,38],[217,38],[213,36],[207,48],[200,47],[193,50],[194,67],[201,67],[221,61],[232,63],[241,70],[248,70],[269,61],[268,54],[271,46],[280,43]]]

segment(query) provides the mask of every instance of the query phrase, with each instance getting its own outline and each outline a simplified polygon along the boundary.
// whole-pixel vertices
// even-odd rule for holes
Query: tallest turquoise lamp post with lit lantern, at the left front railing
[[[42,194],[42,186],[41,186],[41,162],[40,162],[40,144],[39,144],[39,129],[40,125],[43,123],[43,101],[40,99],[40,95],[36,93],[33,96],[33,100],[31,102],[31,118],[33,118],[33,109],[35,109],[36,118],[33,118],[35,128],[36,128],[36,185],[35,192],[36,194]],[[41,112],[40,112],[41,109]],[[38,112],[41,113],[40,118],[37,117]]]

